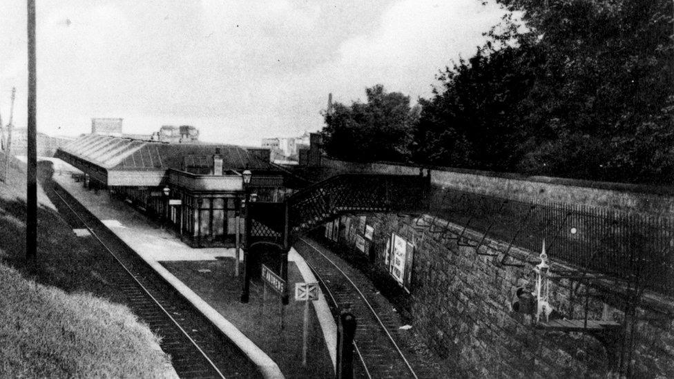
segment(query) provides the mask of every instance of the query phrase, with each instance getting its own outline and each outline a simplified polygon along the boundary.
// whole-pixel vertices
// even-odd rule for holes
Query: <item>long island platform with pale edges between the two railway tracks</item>
[[[242,273],[234,275],[235,249],[192,248],[108,191],[95,193],[70,175],[53,179],[237,344],[265,377],[334,376],[336,324],[322,295],[311,307],[310,353],[303,367],[304,305],[291,300],[280,311],[280,298],[255,282],[249,304],[240,304]],[[296,251],[289,261],[291,290],[295,282],[316,281]]]

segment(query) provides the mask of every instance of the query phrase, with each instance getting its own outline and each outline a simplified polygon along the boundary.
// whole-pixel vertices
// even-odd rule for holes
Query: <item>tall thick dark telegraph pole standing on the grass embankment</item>
[[[26,179],[26,259],[37,258],[37,72],[35,0],[28,0],[28,171]]]

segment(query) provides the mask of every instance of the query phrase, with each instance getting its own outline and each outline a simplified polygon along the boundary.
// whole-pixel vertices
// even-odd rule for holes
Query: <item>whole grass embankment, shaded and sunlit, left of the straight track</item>
[[[97,268],[99,253],[44,205],[37,261],[25,260],[25,183],[20,171],[0,182],[0,376],[167,376],[157,337],[128,308],[96,297],[117,293]]]

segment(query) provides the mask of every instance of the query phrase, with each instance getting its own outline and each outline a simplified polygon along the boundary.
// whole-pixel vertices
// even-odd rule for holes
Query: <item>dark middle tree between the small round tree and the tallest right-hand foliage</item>
[[[523,130],[512,106],[526,95],[530,73],[520,50],[478,50],[439,77],[434,98],[421,100],[414,133],[418,162],[509,170],[521,156]]]

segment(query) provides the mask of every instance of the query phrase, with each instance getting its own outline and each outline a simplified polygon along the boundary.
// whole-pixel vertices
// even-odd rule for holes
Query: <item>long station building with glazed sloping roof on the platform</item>
[[[85,135],[56,157],[81,170],[86,186],[108,188],[160,217],[195,247],[234,246],[244,191],[260,202],[280,202],[292,191],[292,178],[269,162],[268,149]],[[245,170],[252,173],[247,185]]]

